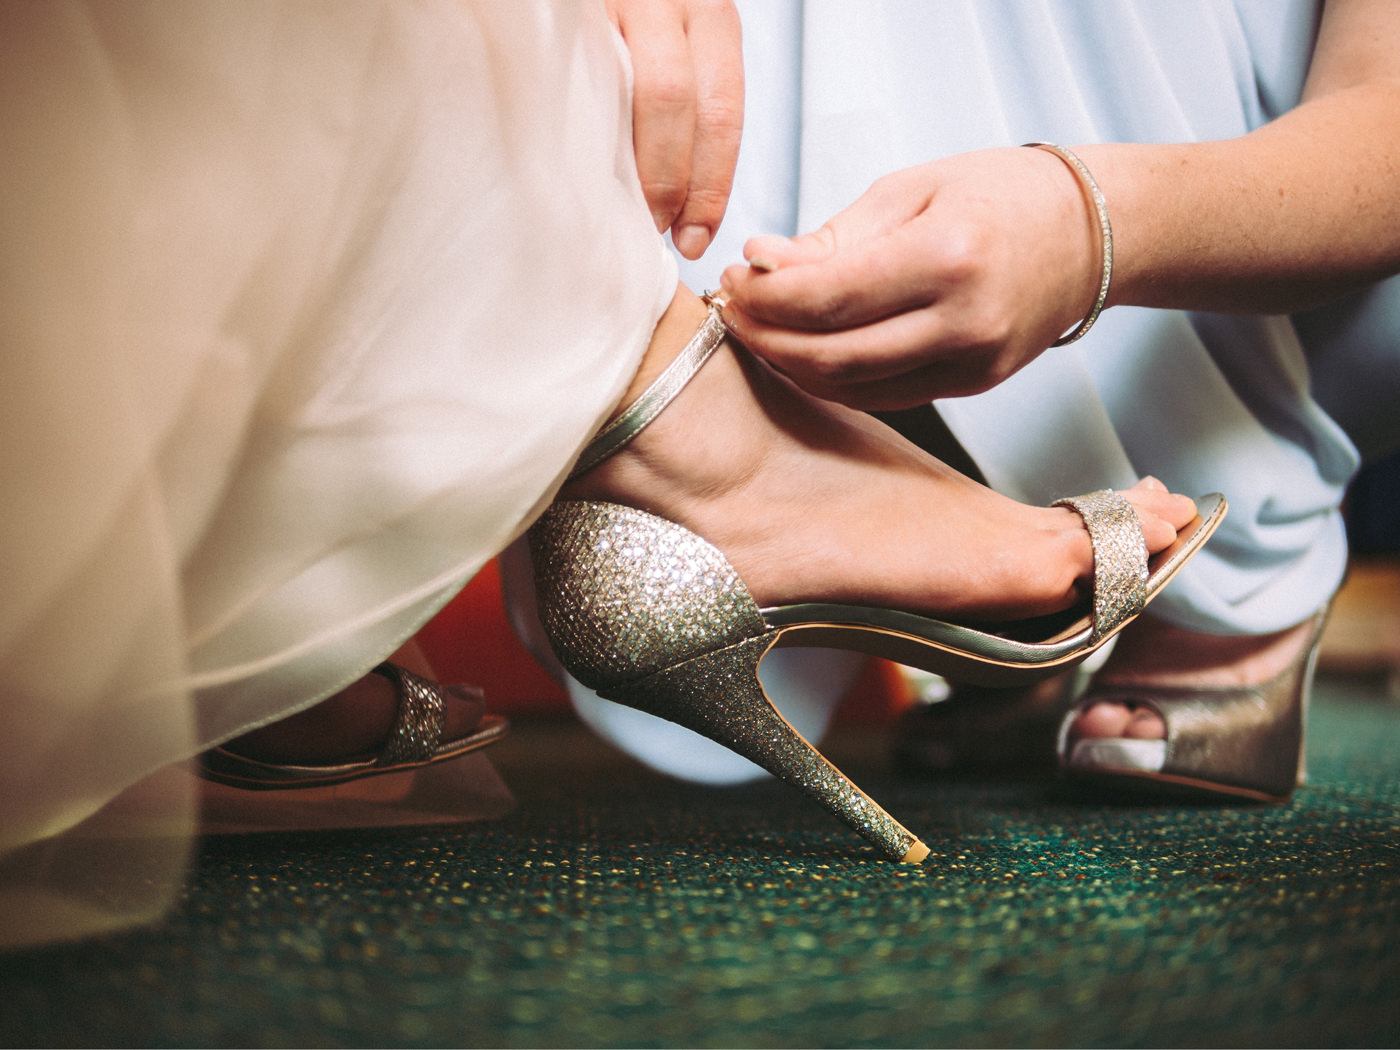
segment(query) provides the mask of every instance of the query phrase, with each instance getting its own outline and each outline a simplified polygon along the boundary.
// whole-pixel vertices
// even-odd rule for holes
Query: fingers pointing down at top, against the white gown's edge
[[[729,203],[743,127],[732,0],[608,0],[631,53],[633,146],[657,230],[699,259]]]

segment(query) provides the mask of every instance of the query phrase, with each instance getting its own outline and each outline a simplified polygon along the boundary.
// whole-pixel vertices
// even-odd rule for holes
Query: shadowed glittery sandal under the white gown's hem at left
[[[381,664],[374,673],[389,679],[398,694],[393,725],[375,755],[357,755],[332,764],[300,766],[260,762],[230,750],[210,748],[199,755],[196,770],[206,780],[255,791],[311,788],[344,784],[361,777],[447,762],[501,739],[508,722],[500,715],[482,714],[476,727],[465,736],[442,739],[449,689],[405,671],[395,664]],[[452,703],[476,703],[452,693]]]

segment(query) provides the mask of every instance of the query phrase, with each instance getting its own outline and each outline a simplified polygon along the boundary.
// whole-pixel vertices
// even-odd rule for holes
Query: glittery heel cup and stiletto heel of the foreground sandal
[[[776,638],[713,545],[644,511],[559,503],[531,529],[540,620],[580,682],[794,784],[896,860],[923,846],[773,708]],[[913,855],[911,855],[913,851]]]

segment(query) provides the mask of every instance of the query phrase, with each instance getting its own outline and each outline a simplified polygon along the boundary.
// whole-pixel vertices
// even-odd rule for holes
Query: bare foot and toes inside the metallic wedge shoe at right
[[[1253,686],[1277,678],[1302,655],[1315,622],[1273,634],[1203,634],[1141,616],[1119,636],[1095,687]],[[1166,739],[1166,724],[1151,707],[1100,700],[1085,707],[1070,739]]]

